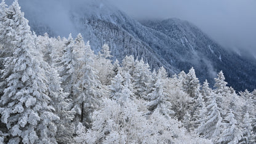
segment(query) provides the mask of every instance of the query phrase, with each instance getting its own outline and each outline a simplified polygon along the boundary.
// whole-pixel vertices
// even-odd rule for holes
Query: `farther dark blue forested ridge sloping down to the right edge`
[[[207,78],[211,82],[214,82],[212,78],[216,73],[223,70],[226,81],[235,89],[255,89],[255,61],[246,60],[235,52],[225,50],[193,24],[177,18],[144,21],[142,24],[178,42],[181,47],[171,51],[180,60],[174,65],[180,70],[188,70],[194,66],[201,81]]]

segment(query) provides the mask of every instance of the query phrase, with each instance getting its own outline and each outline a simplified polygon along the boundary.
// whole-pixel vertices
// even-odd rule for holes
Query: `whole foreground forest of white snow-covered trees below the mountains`
[[[171,78],[112,61],[81,34],[36,36],[18,2],[0,4],[1,143],[256,143],[256,90],[214,89],[191,68]]]

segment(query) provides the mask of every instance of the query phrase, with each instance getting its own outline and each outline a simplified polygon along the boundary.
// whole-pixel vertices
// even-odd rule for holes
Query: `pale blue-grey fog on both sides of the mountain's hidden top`
[[[10,4],[13,0],[6,0]],[[50,25],[57,34],[78,34],[68,14],[89,0],[20,0],[26,14]],[[92,0],[91,0],[92,1]],[[96,0],[93,0],[96,1]],[[137,20],[180,18],[201,28],[227,49],[247,51],[256,58],[255,0],[97,0],[110,2]],[[249,53],[248,53],[249,52]]]

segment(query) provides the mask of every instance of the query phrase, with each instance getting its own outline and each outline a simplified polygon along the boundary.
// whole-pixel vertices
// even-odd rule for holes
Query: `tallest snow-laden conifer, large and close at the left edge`
[[[56,143],[54,107],[47,89],[47,79],[42,65],[42,55],[36,52],[34,35],[28,20],[23,17],[18,2],[9,7],[13,11],[12,20],[20,22],[15,28],[13,57],[4,61],[2,78],[6,79],[6,89],[1,97],[1,121],[8,129],[9,143]]]

